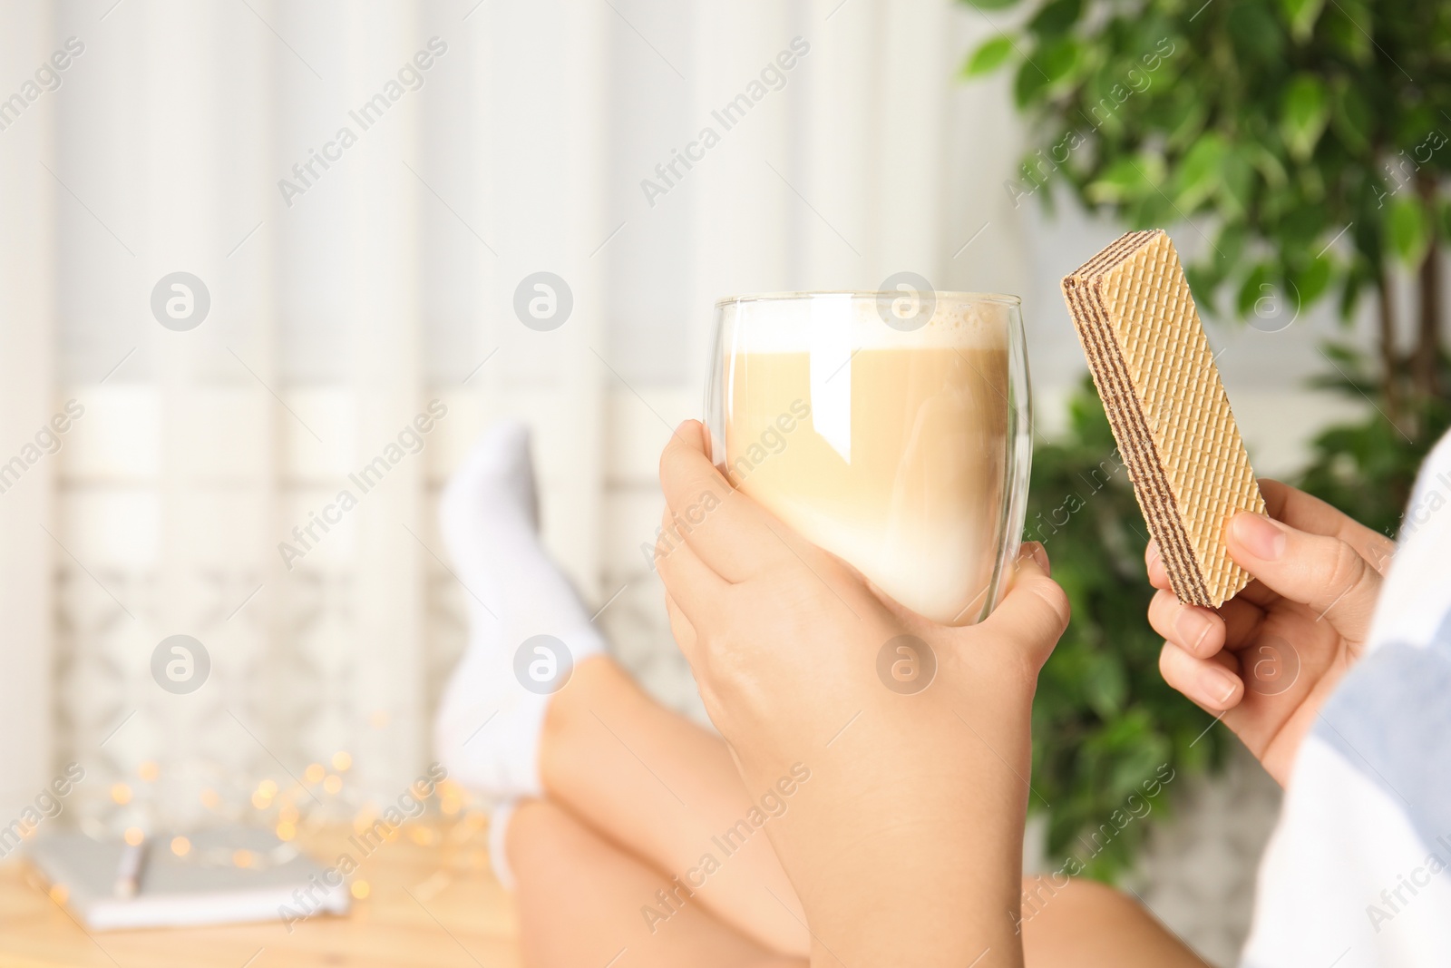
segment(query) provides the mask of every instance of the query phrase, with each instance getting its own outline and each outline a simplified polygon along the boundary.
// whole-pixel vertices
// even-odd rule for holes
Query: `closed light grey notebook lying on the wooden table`
[[[170,837],[148,842],[131,898],[116,895],[126,849],[119,839],[58,833],[35,840],[28,856],[51,885],[64,888],[67,907],[91,930],[297,920],[348,911],[348,885],[341,875],[325,872],[271,832],[219,827],[190,834],[190,850],[177,856]],[[250,866],[237,866],[237,850],[247,852]],[[329,879],[337,885],[328,887]],[[299,890],[305,891],[300,898],[295,894]]]

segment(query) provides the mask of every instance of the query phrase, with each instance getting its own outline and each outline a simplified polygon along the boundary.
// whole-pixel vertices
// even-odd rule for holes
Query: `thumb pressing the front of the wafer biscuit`
[[[1380,573],[1341,538],[1241,511],[1225,528],[1229,554],[1265,588],[1310,608],[1342,636],[1364,641]]]

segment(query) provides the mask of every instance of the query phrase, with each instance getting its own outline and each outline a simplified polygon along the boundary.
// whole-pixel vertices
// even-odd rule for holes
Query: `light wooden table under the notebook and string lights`
[[[350,832],[299,833],[324,865]],[[405,826],[353,879],[367,897],[347,917],[229,927],[86,932],[25,862],[0,865],[0,968],[287,968],[521,965],[514,901],[489,869],[483,819]],[[357,888],[354,893],[363,893]]]

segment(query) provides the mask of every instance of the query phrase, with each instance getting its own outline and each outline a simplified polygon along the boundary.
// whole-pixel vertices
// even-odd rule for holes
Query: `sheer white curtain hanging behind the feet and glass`
[[[463,646],[434,495],[506,414],[550,547],[689,707],[640,546],[711,305],[1020,287],[1006,196],[959,187],[1016,152],[1000,87],[953,78],[988,29],[946,0],[3,7],[6,77],[84,45],[0,131],[0,459],[84,408],[0,495],[6,803],[75,760],[78,811],[184,823],[338,752],[395,797]],[[554,329],[515,313],[541,271]],[[152,312],[173,273],[209,295],[192,329]],[[177,634],[210,657],[194,692],[152,675]]]

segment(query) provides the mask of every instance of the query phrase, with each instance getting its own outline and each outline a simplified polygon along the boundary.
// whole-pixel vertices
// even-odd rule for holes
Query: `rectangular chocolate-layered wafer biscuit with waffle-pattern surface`
[[[1129,232],[1062,287],[1174,594],[1225,604],[1251,578],[1225,524],[1265,504],[1174,244]]]

